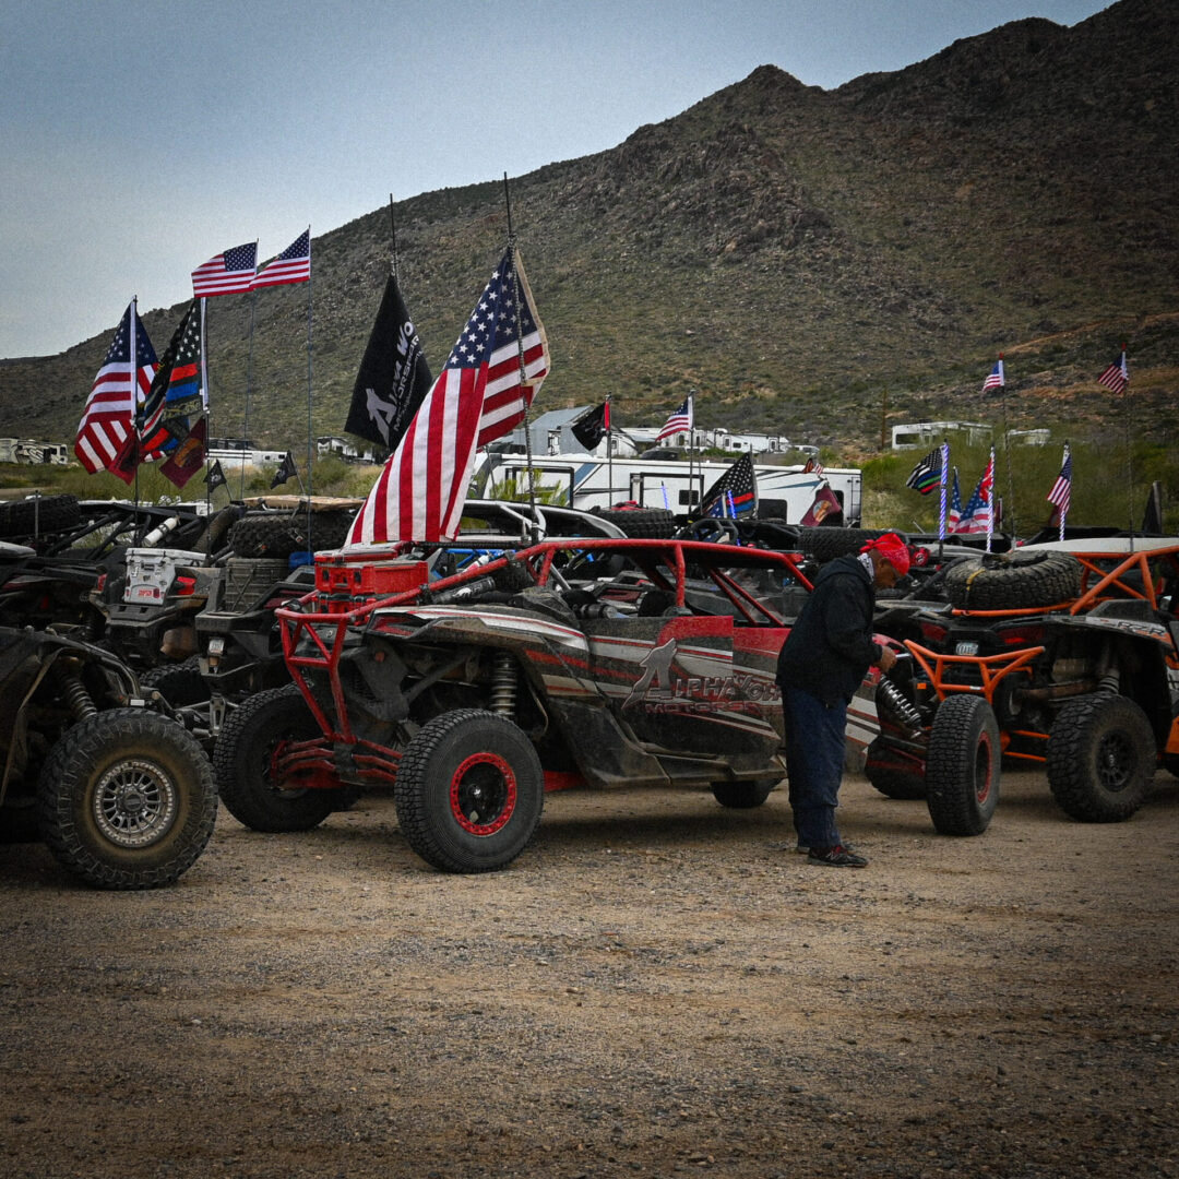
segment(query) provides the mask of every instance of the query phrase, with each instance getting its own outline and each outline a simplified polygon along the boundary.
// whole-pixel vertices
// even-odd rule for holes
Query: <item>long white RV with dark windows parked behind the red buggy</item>
[[[535,489],[545,502],[566,507],[606,508],[625,501],[646,508],[670,508],[676,515],[692,514],[704,493],[732,466],[731,462],[686,462],[661,459],[618,459],[613,462],[588,454],[542,455],[533,459]],[[843,522],[857,525],[861,514],[862,474],[855,467],[826,467],[822,475],[802,467],[753,465],[763,516],[797,523],[815,502],[825,480],[843,505]],[[480,452],[472,479],[472,495],[480,499],[519,499],[528,494],[528,465],[520,454]]]

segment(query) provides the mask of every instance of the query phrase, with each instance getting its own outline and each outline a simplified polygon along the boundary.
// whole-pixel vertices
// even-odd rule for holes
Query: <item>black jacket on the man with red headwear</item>
[[[782,644],[778,684],[801,687],[824,704],[849,702],[881,657],[872,641],[875,606],[872,579],[857,556],[824,565]]]

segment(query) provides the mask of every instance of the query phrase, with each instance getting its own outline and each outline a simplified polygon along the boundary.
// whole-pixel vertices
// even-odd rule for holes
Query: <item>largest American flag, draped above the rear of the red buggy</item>
[[[476,448],[523,421],[548,363],[545,329],[520,256],[509,245],[369,492],[348,544],[453,539]]]

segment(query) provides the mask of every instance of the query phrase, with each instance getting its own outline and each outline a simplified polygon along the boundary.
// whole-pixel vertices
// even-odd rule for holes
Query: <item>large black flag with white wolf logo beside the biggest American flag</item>
[[[396,449],[433,383],[397,279],[390,275],[356,374],[344,429]]]

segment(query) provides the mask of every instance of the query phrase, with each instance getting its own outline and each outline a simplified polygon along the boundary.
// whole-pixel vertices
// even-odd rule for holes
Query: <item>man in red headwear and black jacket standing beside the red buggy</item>
[[[896,533],[858,554],[829,561],[778,656],[785,719],[786,776],[799,850],[812,864],[864,868],[843,845],[835,808],[843,777],[848,704],[870,665],[887,672],[896,654],[872,640],[876,591],[909,572],[909,549]]]

